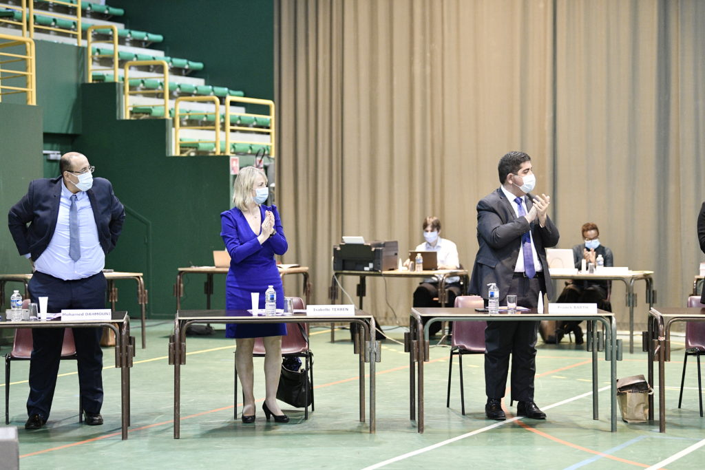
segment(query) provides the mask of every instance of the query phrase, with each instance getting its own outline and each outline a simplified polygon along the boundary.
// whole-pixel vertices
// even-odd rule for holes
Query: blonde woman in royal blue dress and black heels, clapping
[[[283,308],[284,292],[274,259],[288,247],[276,206],[264,206],[269,189],[264,171],[254,166],[240,170],[233,186],[235,207],[221,214],[221,237],[231,256],[226,279],[226,309],[246,310],[251,307],[251,292],[259,292],[259,308],[264,308],[264,291],[269,285],[276,290],[276,307]],[[281,336],[284,323],[228,323],[226,337],[235,338],[235,363],[243,388],[243,423],[255,421],[252,348],[255,338],[264,342],[264,381],[266,397],[262,409],[269,421],[286,423],[276,401],[281,374]]]

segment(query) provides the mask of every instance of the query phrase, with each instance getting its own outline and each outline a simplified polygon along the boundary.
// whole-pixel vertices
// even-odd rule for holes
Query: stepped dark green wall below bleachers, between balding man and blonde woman
[[[223,249],[220,213],[230,209],[226,156],[168,154],[171,123],[164,119],[117,120],[121,85],[83,85],[83,133],[75,149],[113,183],[126,210],[123,234],[106,268],[145,273],[149,316],[173,318],[177,268],[212,265]],[[205,308],[202,282],[188,278],[182,308]],[[138,311],[135,286],[118,281],[118,308]],[[224,279],[216,279],[213,308],[223,308]]]

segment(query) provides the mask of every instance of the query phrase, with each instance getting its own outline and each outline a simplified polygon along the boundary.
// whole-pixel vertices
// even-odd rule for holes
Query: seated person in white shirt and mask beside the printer
[[[424,238],[421,245],[416,247],[417,252],[438,252],[439,269],[458,269],[458,247],[446,238],[441,238],[441,221],[438,217],[430,216],[424,219]],[[409,265],[407,259],[405,266]],[[455,297],[460,294],[460,278],[454,276],[446,279],[446,306],[453,307]],[[441,307],[438,301],[439,281],[436,278],[425,278],[414,292],[414,307]],[[429,335],[435,335],[441,330],[441,322],[431,324]]]

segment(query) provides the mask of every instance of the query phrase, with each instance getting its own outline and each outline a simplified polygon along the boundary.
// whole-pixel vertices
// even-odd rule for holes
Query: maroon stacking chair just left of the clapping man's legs
[[[482,309],[484,301],[479,295],[459,295],[455,297],[455,307]],[[450,379],[453,377],[453,356],[458,356],[460,364],[460,406],[465,414],[465,391],[462,382],[462,357],[465,354],[484,354],[484,330],[486,321],[454,321],[453,340],[450,343],[450,360],[448,361],[448,395],[446,407],[450,408]]]

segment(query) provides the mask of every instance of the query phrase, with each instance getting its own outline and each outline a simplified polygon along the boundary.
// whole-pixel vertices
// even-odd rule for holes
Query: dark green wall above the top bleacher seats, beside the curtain
[[[274,3],[271,0],[111,0],[129,28],[164,35],[152,48],[205,64],[209,85],[274,99]]]

